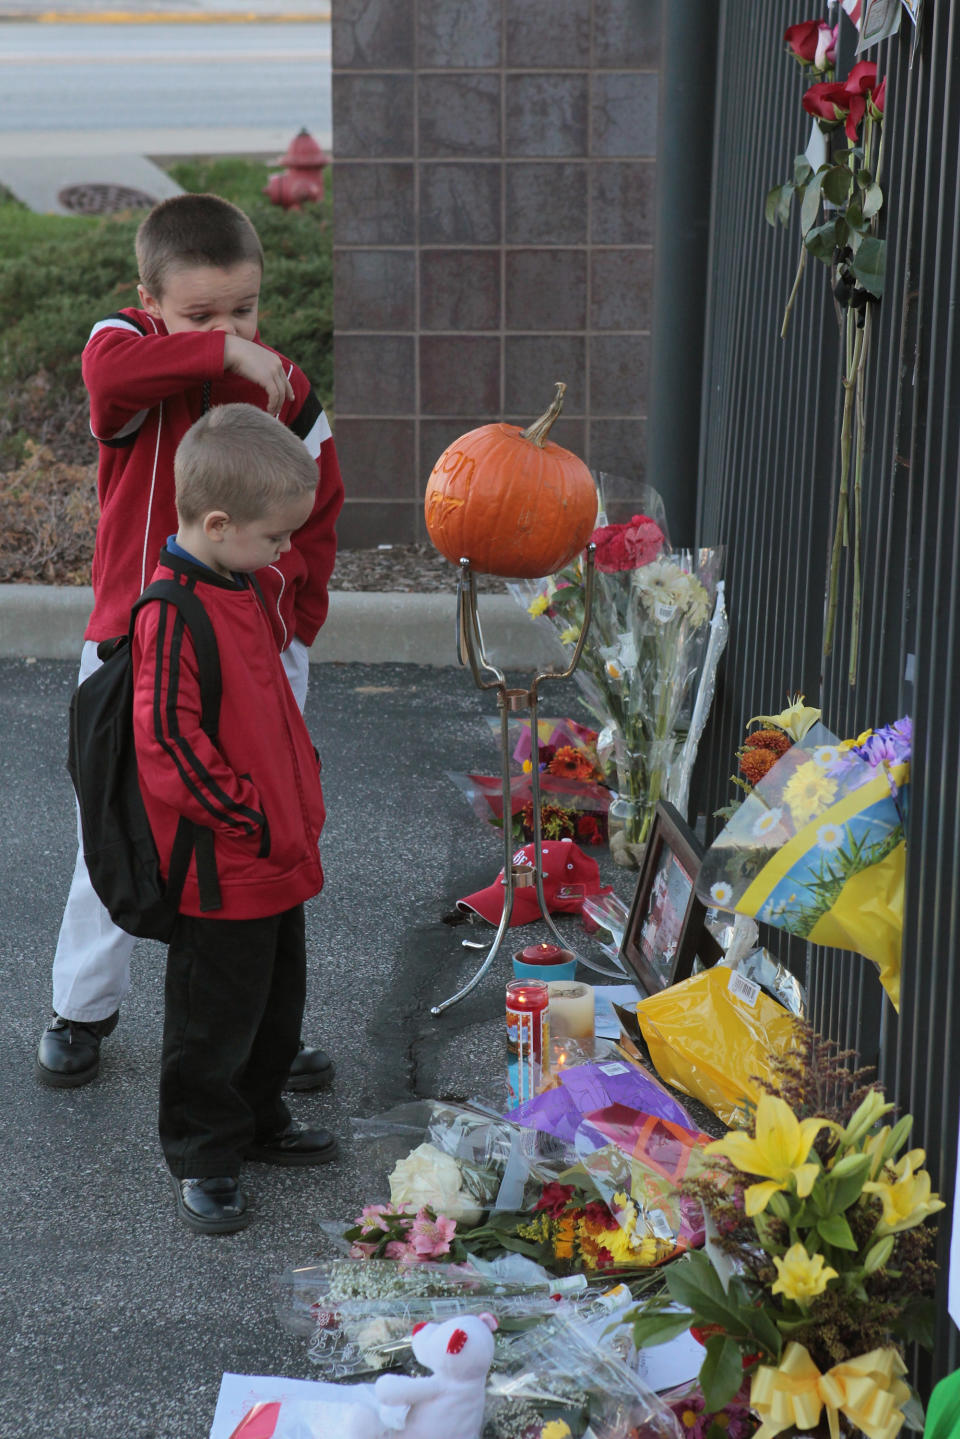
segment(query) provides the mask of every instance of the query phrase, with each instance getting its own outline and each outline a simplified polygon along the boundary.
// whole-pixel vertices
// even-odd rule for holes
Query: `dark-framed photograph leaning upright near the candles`
[[[715,964],[721,950],[704,928],[695,884],[704,849],[679,812],[661,800],[653,813],[620,960],[648,994],[689,979],[694,960]]]

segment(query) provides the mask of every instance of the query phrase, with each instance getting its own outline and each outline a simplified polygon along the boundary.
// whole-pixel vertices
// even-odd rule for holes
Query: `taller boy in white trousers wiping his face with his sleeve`
[[[259,340],[263,253],[242,210],[210,194],[164,200],[140,226],[137,262],[142,309],[101,319],[83,350],[101,519],[79,678],[98,666],[98,642],[125,632],[130,607],[176,528],[177,445],[210,406],[245,401],[275,414],[302,442],[320,481],[292,545],[259,574],[302,709],[307,648],[327,616],[343,505],[330,425],[302,371]],[[130,989],[132,945],[96,898],[81,850],[53,960],[53,1022],[37,1050],[43,1084],[73,1086],[96,1075],[101,1040]],[[289,1086],[314,1088],[331,1073],[322,1050],[301,1046]]]

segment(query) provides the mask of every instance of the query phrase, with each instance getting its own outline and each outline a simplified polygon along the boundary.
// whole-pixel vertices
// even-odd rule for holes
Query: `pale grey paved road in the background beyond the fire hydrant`
[[[0,132],[331,130],[328,24],[0,26]]]

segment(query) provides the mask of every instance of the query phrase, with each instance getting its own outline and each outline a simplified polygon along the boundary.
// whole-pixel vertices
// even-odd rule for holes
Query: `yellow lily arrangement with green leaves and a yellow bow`
[[[905,1150],[911,1117],[881,1124],[894,1107],[848,1059],[809,1027],[774,1056],[777,1092],[685,1186],[712,1239],[633,1314],[638,1347],[695,1325],[705,1412],[743,1406],[747,1380],[763,1436],[813,1429],[826,1409],[833,1436],[894,1439],[911,1400],[902,1348],[931,1335],[927,1219],[943,1204],[924,1151]]]

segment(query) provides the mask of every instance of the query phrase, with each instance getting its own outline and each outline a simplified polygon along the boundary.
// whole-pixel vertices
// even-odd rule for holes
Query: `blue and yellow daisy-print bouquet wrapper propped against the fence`
[[[910,720],[841,741],[815,725],[704,856],[699,898],[872,960],[900,1007]]]

